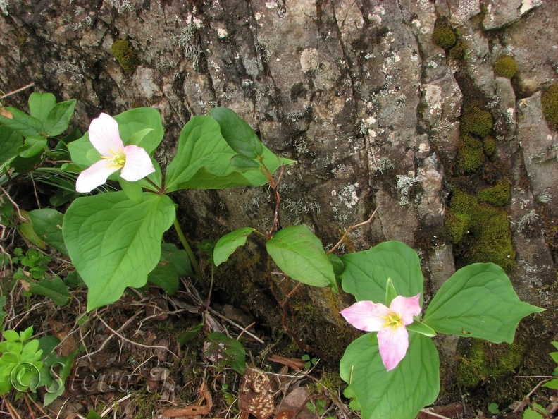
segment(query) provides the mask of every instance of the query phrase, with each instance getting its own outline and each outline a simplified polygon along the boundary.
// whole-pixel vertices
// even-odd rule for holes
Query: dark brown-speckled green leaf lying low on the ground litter
[[[230,365],[239,374],[244,374],[246,371],[244,346],[226,334],[210,333],[204,344],[204,355],[215,365],[221,367]]]

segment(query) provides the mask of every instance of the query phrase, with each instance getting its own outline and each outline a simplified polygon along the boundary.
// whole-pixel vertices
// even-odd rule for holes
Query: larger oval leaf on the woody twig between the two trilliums
[[[273,262],[292,279],[313,286],[332,286],[337,291],[333,265],[319,238],[306,226],[279,230],[266,243]]]

